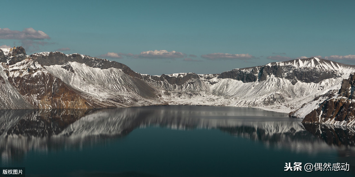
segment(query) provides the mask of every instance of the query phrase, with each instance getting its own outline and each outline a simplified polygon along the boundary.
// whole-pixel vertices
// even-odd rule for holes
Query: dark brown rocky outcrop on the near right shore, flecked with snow
[[[336,125],[355,125],[355,73],[343,79],[337,96],[328,96],[317,109],[307,114],[304,123],[330,123]]]

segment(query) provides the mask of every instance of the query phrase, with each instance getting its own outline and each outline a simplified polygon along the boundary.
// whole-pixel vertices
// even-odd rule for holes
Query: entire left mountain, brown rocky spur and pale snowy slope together
[[[7,86],[1,87],[0,91],[4,91],[0,95],[16,94],[10,99],[4,96],[0,109],[88,109],[165,104],[156,101],[155,89],[137,78],[140,74],[121,63],[61,52],[28,56],[22,49],[1,49],[3,73],[0,80],[4,80],[1,84]],[[18,54],[16,51],[23,52]],[[64,64],[59,65],[61,63]]]

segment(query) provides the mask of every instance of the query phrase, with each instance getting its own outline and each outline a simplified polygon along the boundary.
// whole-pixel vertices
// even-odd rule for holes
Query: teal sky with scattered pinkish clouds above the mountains
[[[0,48],[23,46],[27,55],[79,53],[151,75],[313,56],[355,65],[354,0],[1,3]]]

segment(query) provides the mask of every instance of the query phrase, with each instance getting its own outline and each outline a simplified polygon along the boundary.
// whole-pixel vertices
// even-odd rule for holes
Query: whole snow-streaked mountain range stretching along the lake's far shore
[[[26,55],[22,47],[1,49],[0,63],[0,109],[187,104],[259,107],[288,113],[339,90],[343,79],[355,71],[353,65],[313,57],[220,74],[150,76],[86,55]],[[303,118],[312,111],[311,106],[306,108],[291,115]]]

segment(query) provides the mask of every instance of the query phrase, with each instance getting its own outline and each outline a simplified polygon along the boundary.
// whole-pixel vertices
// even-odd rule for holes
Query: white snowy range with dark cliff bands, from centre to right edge
[[[354,66],[318,58],[274,62],[221,74],[142,75],[170,104],[260,107],[290,112],[354,71]]]

